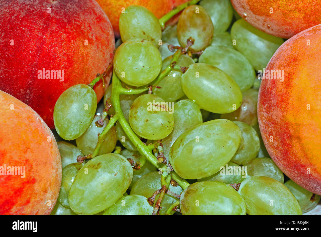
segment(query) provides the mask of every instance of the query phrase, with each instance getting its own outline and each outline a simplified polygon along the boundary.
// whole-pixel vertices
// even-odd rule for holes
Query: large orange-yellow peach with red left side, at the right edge
[[[291,180],[319,195],[320,52],[321,24],[282,44],[266,70],[284,70],[284,81],[263,79],[257,106],[262,138],[273,161]]]

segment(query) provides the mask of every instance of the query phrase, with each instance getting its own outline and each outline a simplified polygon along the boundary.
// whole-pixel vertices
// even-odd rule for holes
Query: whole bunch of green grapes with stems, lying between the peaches
[[[103,100],[92,89],[103,76],[59,97],[52,214],[296,215],[320,201],[286,181],[260,134],[256,73],[284,40],[239,19],[229,0],[196,3],[161,19],[125,8]]]

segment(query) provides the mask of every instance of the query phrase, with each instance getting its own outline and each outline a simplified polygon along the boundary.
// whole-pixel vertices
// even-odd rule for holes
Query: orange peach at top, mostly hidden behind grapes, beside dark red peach
[[[117,38],[120,37],[118,24],[119,16],[123,7],[126,8],[131,5],[144,6],[154,13],[157,18],[161,18],[163,15],[173,10],[174,7],[187,1],[188,0],[97,0],[98,4],[100,4],[102,9],[108,15]],[[178,19],[176,17],[176,22],[177,20]]]

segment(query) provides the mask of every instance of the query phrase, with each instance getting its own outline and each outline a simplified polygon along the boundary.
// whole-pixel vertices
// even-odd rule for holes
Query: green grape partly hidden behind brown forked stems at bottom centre
[[[160,176],[161,174],[159,174],[157,171],[143,175],[134,184],[132,190],[130,191],[130,194],[142,195],[146,198],[152,197],[153,193],[157,189],[161,189]],[[171,184],[169,184],[168,190],[176,194],[180,194],[183,191],[183,189],[180,186],[173,186]],[[155,197],[154,205],[158,197],[159,194],[157,194]],[[176,197],[172,197],[168,194],[165,194],[160,204],[160,206],[162,206],[162,208],[160,209],[160,215],[164,215],[167,209],[176,201],[178,201]]]

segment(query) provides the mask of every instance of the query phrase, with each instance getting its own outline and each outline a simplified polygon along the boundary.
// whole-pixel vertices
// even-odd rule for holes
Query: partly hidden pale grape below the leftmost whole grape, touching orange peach
[[[74,146],[70,143],[61,141],[57,142],[62,168],[67,166],[68,164],[77,162],[77,157],[83,156],[82,152],[78,149],[77,146]]]

